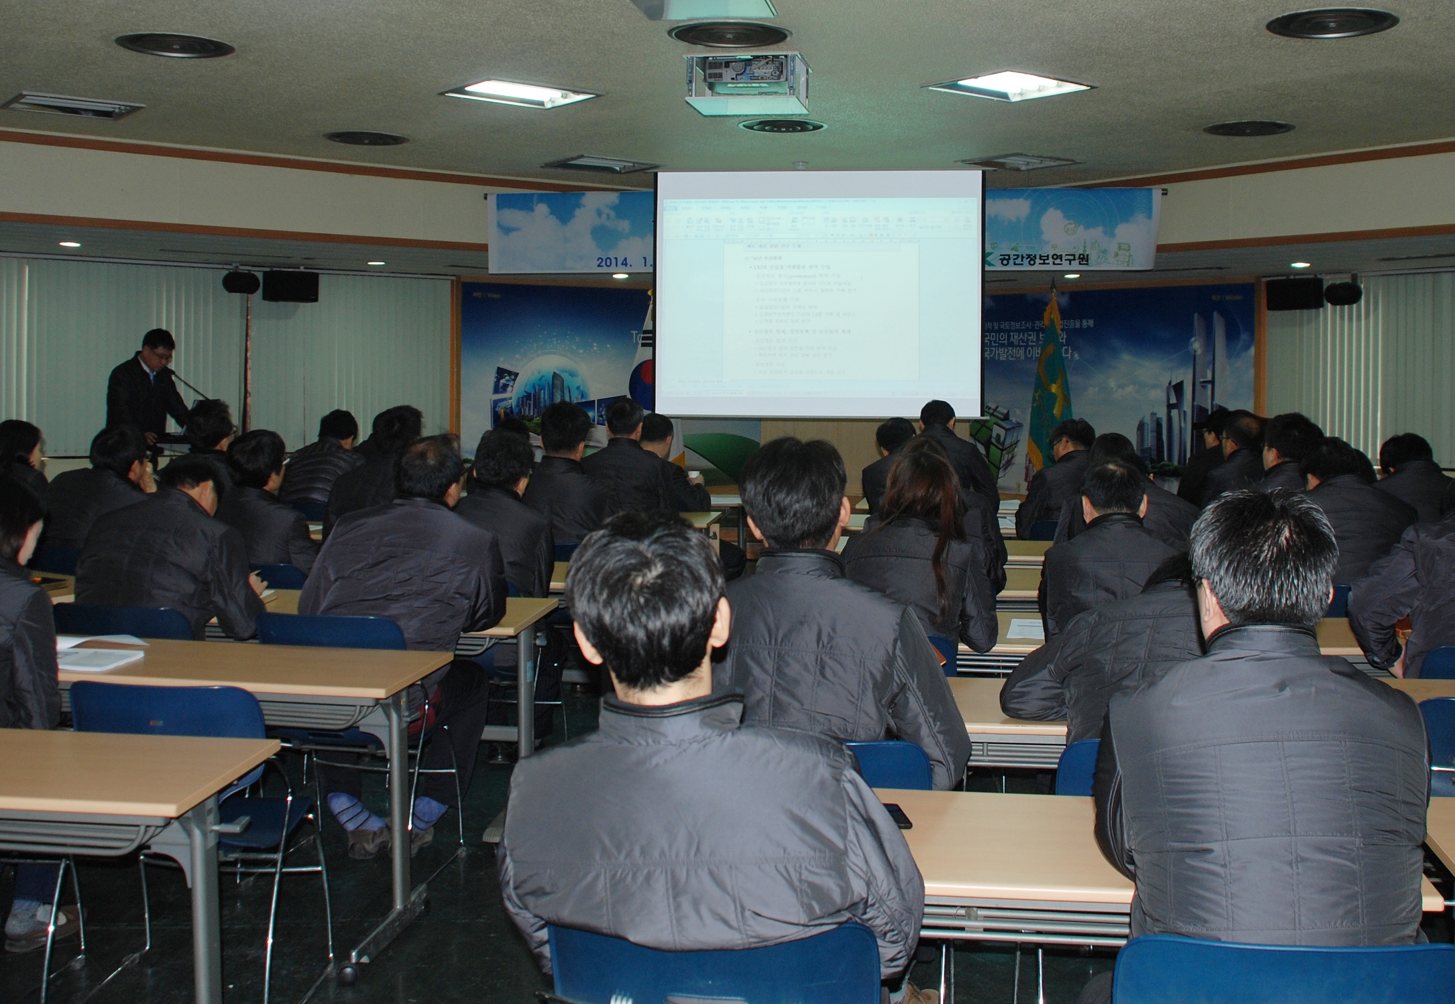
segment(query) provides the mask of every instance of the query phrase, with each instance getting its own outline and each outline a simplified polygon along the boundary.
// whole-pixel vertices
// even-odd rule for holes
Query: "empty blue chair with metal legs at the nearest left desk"
[[[233,739],[265,739],[263,712],[258,698],[239,687],[129,687],[125,684],[103,684],[80,681],[71,684],[71,717],[77,732],[128,732],[134,735],[170,736],[221,736]],[[278,797],[234,797],[262,778],[263,767],[256,767],[226,789],[218,800],[218,815],[223,825],[237,825],[244,816],[249,822],[240,832],[220,832],[218,845],[226,853],[226,867],[239,874],[274,876],[272,904],[268,909],[268,941],[263,960],[263,1001],[268,1001],[272,985],[274,930],[278,920],[278,886],[282,876],[316,872],[323,880],[323,909],[329,936],[329,962],[333,962],[333,908],[329,898],[329,870],[323,860],[322,832],[314,838],[319,853],[317,864],[284,866],[288,854],[288,838],[308,821],[319,831],[319,819],[313,803],[306,797],[294,797],[292,786],[278,768],[276,761],[268,761],[284,778],[287,794]],[[266,767],[266,764],[265,764]],[[151,904],[147,898],[147,861],[159,854],[169,857],[178,851],[163,847],[144,850],[140,858],[143,869],[141,891],[147,924],[147,944],[151,944]]]

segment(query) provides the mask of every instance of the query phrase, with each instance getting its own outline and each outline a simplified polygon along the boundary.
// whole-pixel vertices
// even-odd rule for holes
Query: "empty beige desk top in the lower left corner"
[[[0,810],[176,819],[275,752],[276,739],[0,729]]]

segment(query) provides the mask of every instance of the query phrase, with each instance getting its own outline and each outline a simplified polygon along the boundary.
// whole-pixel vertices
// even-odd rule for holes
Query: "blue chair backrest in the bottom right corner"
[[[1116,957],[1116,1004],[1435,1004],[1455,987],[1455,944],[1305,949],[1155,934]]]

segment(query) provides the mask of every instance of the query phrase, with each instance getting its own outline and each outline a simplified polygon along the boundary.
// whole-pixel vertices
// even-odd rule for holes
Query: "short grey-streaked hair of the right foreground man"
[[[1189,554],[1234,627],[1314,627],[1328,611],[1339,544],[1302,492],[1228,492],[1197,517]]]

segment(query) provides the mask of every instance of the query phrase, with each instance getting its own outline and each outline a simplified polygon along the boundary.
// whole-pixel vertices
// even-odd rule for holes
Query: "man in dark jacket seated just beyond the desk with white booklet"
[[[243,535],[212,518],[220,479],[208,457],[178,457],[156,495],[99,517],[76,565],[76,602],[172,607],[199,642],[212,617],[228,637],[252,637],[263,583],[247,572]]]

